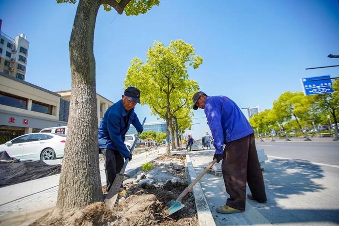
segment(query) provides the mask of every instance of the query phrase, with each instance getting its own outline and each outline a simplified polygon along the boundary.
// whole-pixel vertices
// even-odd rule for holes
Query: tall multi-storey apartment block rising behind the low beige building
[[[0,27],[0,72],[25,80],[29,45],[25,34],[13,39],[1,32]]]

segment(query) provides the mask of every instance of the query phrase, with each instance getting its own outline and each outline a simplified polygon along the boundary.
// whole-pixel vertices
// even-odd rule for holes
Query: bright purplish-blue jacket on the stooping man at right
[[[223,153],[223,145],[254,132],[240,108],[228,97],[207,97],[204,111],[216,154]]]

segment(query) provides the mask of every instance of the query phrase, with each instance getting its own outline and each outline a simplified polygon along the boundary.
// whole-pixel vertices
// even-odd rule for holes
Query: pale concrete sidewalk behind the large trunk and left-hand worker
[[[125,174],[136,173],[141,164],[164,153],[165,147],[159,147],[158,150],[133,155]],[[106,185],[104,162],[100,162],[100,176],[102,185]],[[29,225],[55,207],[59,178],[60,174],[0,188],[0,225]]]

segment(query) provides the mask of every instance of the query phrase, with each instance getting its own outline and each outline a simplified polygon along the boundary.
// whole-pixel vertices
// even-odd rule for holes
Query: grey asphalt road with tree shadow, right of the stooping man
[[[258,208],[269,222],[339,224],[339,141],[332,139],[256,142],[269,157],[263,172],[268,201]]]

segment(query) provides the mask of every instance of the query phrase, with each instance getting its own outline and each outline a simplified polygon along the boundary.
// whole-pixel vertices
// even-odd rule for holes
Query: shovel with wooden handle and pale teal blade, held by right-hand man
[[[185,190],[178,196],[176,200],[172,199],[170,202],[166,203],[166,206],[169,207],[168,210],[166,210],[166,215],[169,216],[172,213],[175,213],[178,210],[181,210],[182,208],[185,207],[184,204],[181,203],[181,199],[193,188],[193,186],[204,176],[209,169],[212,168],[212,166],[216,163],[216,159],[214,159],[207,167],[202,171],[202,173],[195,178],[195,180],[188,185],[188,187],[185,188]]]

